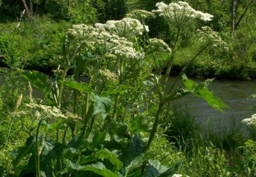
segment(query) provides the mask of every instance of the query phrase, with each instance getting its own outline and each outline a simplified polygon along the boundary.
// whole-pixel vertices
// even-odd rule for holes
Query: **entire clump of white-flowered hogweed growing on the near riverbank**
[[[174,175],[181,162],[168,169],[157,160],[146,161],[146,152],[167,102],[191,93],[220,111],[228,107],[208,91],[212,80],[197,84],[184,74],[206,47],[223,46],[224,42],[208,27],[198,31],[204,46],[167,90],[180,32],[212,16],[195,11],[185,2],[156,6],[154,12],[177,29],[172,49],[164,41],[148,37],[144,19],[155,14],[142,10],[106,24],[77,24],[68,32],[56,31],[53,37],[61,44],[62,63],[54,76],[22,73],[45,93],[45,101],[34,99],[29,87],[30,103],[20,112],[24,119],[32,120],[31,125],[24,125],[29,137],[25,146],[12,152],[19,173],[36,172],[37,177]],[[165,76],[160,72],[166,60],[158,58],[154,51],[170,54]],[[144,60],[145,55],[153,56],[155,72],[151,72],[152,64]],[[81,82],[79,76],[86,76],[85,81]],[[154,77],[154,82],[149,76]],[[185,87],[176,89],[181,77]],[[150,115],[152,105],[157,105],[156,115]],[[153,126],[149,122],[152,117]],[[28,162],[19,164],[25,157]]]

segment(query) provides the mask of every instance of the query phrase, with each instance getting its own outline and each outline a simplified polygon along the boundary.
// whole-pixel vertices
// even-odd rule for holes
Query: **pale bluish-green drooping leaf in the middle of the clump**
[[[105,119],[111,107],[111,99],[94,94],[92,100],[94,105],[93,115],[101,113],[102,118]]]

